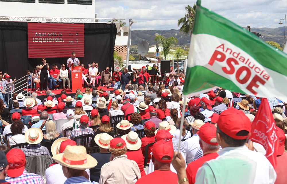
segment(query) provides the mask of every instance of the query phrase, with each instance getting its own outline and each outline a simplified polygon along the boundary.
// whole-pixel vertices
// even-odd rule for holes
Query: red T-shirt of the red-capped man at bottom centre
[[[140,178],[137,180],[136,184],[166,184],[166,183],[177,183],[177,174],[173,173],[171,170],[155,170],[154,172]]]

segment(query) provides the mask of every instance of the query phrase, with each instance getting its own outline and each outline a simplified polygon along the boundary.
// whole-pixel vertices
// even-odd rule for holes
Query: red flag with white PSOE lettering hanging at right
[[[266,158],[276,167],[276,152],[279,143],[276,124],[268,100],[261,99],[260,108],[251,124],[251,141],[257,142],[266,150]]]

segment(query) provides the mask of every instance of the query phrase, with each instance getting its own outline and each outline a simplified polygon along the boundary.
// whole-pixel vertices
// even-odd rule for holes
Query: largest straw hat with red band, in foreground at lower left
[[[78,170],[90,169],[98,164],[96,159],[87,154],[84,146],[67,145],[65,152],[53,156],[53,159],[62,166]]]

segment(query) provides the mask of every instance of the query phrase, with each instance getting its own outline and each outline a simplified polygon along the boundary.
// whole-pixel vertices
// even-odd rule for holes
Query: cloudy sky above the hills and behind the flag
[[[98,18],[130,18],[137,22],[132,30],[179,29],[177,21],[185,16],[190,0],[95,0]],[[282,27],[287,0],[201,0],[201,5],[246,27]],[[128,24],[127,24],[128,25]]]

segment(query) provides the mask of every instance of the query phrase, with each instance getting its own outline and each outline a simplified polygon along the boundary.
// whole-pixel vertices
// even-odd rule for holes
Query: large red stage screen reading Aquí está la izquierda
[[[84,57],[84,24],[28,22],[28,57]]]

